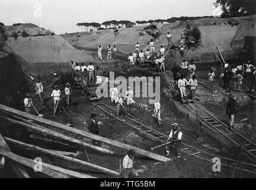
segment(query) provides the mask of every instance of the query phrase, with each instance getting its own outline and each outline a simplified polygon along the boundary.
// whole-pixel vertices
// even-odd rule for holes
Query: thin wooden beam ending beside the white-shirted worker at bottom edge
[[[85,167],[89,167],[89,168],[92,168],[92,169],[99,170],[102,173],[107,173],[109,175],[119,176],[118,172],[115,172],[114,170],[107,169],[105,167],[98,166],[96,164],[88,163],[88,162],[85,162],[83,160],[74,159],[72,157],[68,157],[68,156],[64,156],[62,154],[54,153],[53,151],[49,151],[49,150],[37,147],[35,145],[22,143],[20,141],[13,140],[11,138],[4,137],[4,139],[8,143],[19,145],[20,147],[26,148],[27,150],[36,151],[36,152],[39,152],[39,153],[42,153],[42,154],[48,154],[49,156],[52,156],[52,157],[55,157],[55,158],[58,158],[58,159],[63,159],[63,160],[66,160],[68,162],[71,162],[71,163],[79,164],[80,166],[85,166]]]

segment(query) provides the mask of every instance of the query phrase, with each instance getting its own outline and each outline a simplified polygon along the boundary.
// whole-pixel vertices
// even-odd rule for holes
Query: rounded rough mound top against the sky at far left
[[[20,24],[18,26],[4,26],[4,29],[5,29],[5,33],[8,36],[11,36],[13,32],[17,33],[18,36],[21,36],[23,31],[26,31],[26,33],[29,36],[46,36],[51,34],[51,31],[43,29],[39,26],[36,26],[36,24],[31,24],[31,23]]]

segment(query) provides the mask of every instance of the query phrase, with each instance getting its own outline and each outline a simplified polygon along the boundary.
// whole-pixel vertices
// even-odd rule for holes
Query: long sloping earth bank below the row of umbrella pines
[[[186,50],[185,56],[195,58],[197,62],[213,62],[213,52],[217,52],[216,46],[220,47],[223,56],[226,59],[232,59],[237,50],[244,49],[247,46],[246,37],[252,37],[255,40],[255,21],[256,16],[238,17],[238,18],[202,18],[189,21],[191,27],[197,27],[201,32],[201,43],[195,49]],[[157,50],[160,45],[167,47],[166,34],[168,31],[173,36],[173,42],[180,45],[182,31],[186,28],[186,23],[156,24],[157,30],[161,35],[155,40]],[[103,48],[107,48],[110,43],[117,45],[118,50],[124,53],[130,53],[135,50],[136,42],[139,42],[141,48],[146,50],[147,44],[152,38],[146,34],[145,26],[133,27],[129,29],[119,29],[117,36],[114,36],[113,30],[95,31],[93,33],[73,33],[62,36],[71,45],[77,47],[96,48],[98,43]],[[254,58],[255,59],[255,58]],[[179,58],[173,61],[180,61]]]

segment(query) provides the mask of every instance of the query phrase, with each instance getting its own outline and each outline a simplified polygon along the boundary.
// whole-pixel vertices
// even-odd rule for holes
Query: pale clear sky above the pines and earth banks
[[[216,0],[1,0],[0,22],[33,23],[57,34],[77,23],[213,15]]]

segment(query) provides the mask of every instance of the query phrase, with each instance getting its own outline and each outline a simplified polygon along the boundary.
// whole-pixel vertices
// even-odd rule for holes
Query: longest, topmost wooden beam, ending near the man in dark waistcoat
[[[81,135],[82,137],[92,138],[93,140],[102,141],[106,144],[111,144],[111,145],[114,145],[115,147],[123,148],[124,150],[132,149],[133,151],[135,151],[136,154],[139,154],[141,156],[149,157],[151,159],[159,160],[161,162],[170,161],[170,158],[160,156],[158,154],[151,153],[151,152],[146,151],[146,150],[142,150],[141,148],[136,148],[136,147],[133,147],[133,146],[128,145],[128,144],[124,144],[124,143],[120,143],[118,141],[110,140],[108,138],[101,137],[99,135],[95,135],[95,134],[92,134],[92,133],[87,132],[87,131],[82,131],[82,130],[79,130],[79,129],[76,129],[76,128],[71,128],[70,126],[59,124],[57,122],[54,122],[54,121],[51,121],[51,120],[48,120],[48,119],[45,119],[45,118],[39,118],[38,116],[31,115],[31,114],[26,113],[26,112],[21,112],[20,110],[17,110],[17,109],[8,107],[8,106],[4,106],[4,105],[0,104],[0,110],[4,110],[4,111],[10,112],[10,113],[14,113],[16,115],[23,116],[24,118],[27,118],[27,119],[33,119],[35,121],[41,122],[42,124],[47,124],[47,125],[51,125],[51,126],[54,126],[56,128],[59,128],[59,129],[64,129],[65,131],[72,132],[72,133],[77,134],[77,135]]]

